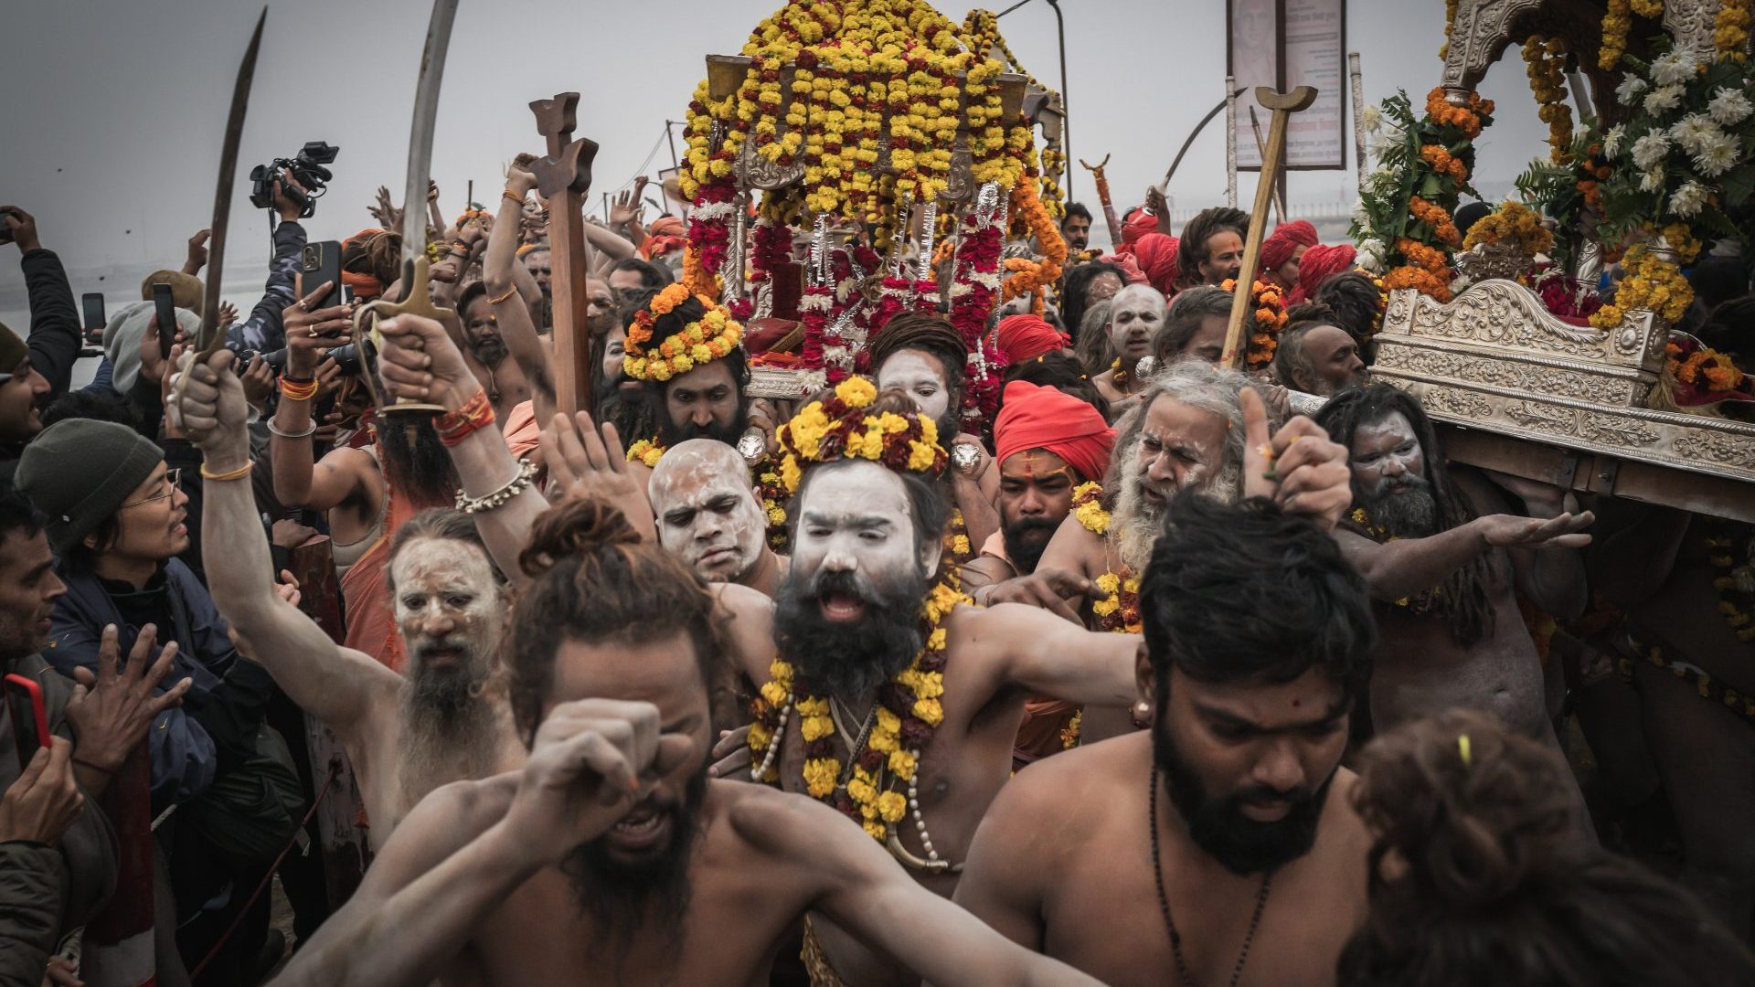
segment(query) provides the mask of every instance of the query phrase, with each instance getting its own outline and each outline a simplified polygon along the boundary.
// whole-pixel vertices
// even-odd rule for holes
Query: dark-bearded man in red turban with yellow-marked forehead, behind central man
[[[1162,234],[1157,234],[1162,235]],[[993,423],[999,460],[999,534],[981,557],[963,566],[963,590],[1030,574],[1072,513],[1072,492],[1102,479],[1114,450],[1114,430],[1090,404],[1028,381],[1006,385],[1006,402]],[[1032,697],[1013,745],[1016,766],[1062,748],[1060,732],[1078,706]]]

